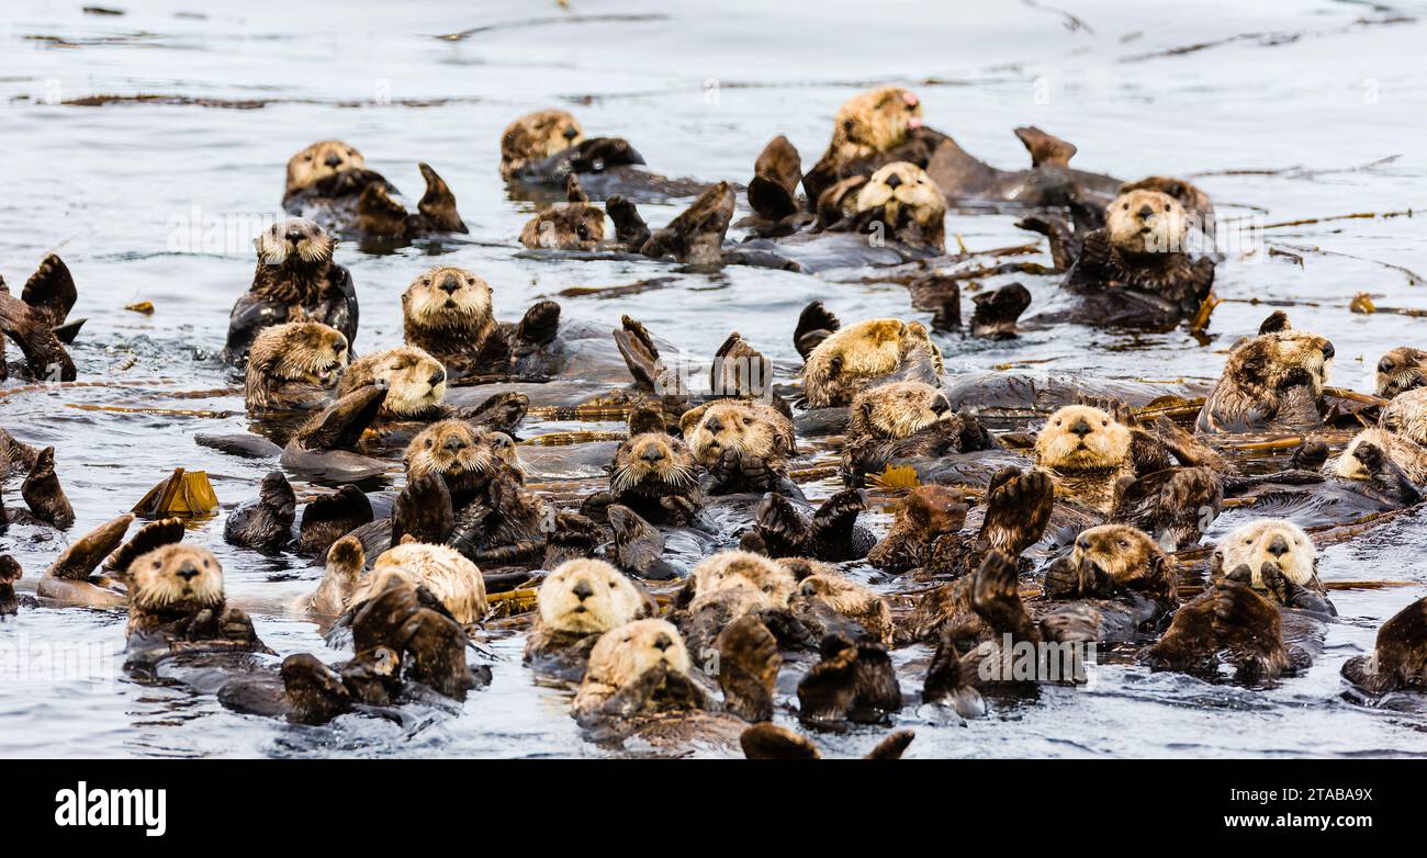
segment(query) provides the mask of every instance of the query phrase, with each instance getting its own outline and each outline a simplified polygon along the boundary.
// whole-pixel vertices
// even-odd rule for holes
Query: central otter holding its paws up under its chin
[[[709,495],[783,492],[802,497],[788,476],[798,439],[788,415],[751,399],[715,399],[679,418],[694,459],[708,472]]]

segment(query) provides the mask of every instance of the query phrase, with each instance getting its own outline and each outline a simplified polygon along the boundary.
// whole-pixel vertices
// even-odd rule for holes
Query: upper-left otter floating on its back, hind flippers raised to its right
[[[455,195],[428,164],[421,164],[427,191],[408,212],[392,195],[397,188],[367,170],[362,154],[340,140],[321,140],[287,162],[283,208],[310,217],[328,229],[361,238],[410,241],[440,232],[468,232],[455,210]]]

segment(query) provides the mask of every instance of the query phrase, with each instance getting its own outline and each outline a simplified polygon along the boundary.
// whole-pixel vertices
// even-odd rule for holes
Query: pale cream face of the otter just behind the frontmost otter
[[[644,610],[639,589],[604,560],[567,560],[539,586],[542,623],[557,631],[592,634],[632,623]]]

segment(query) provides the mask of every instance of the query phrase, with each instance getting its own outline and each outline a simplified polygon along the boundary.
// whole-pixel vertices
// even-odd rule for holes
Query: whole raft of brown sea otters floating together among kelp
[[[842,105],[809,170],[778,137],[746,185],[706,184],[659,175],[628,141],[585,137],[548,110],[505,130],[499,170],[512,188],[565,197],[521,231],[524,254],[903,267],[932,328],[970,336],[1194,324],[1214,299],[1209,198],[1183,180],[1082,172],[1072,144],[1016,134],[1030,168],[990,167],[928,128],[915,94],[888,87]],[[0,614],[40,600],[127,610],[128,670],[201,677],[233,710],[305,724],[465,700],[491,680],[475,644],[528,629],[529,670],[575,690],[572,717],[591,741],[818,757],[805,733],[772,724],[775,711],[809,733],[890,728],[905,707],[976,717],[1036,683],[1085,678],[995,670],[1025,644],[1093,643],[1152,670],[1283,681],[1336,616],[1314,536],[1356,536],[1423,500],[1427,353],[1387,352],[1374,395],[1329,388],[1333,343],[1283,312],[1233,345],[1202,405],[1133,382],[949,378],[926,325],[845,324],[822,302],[791,332],[801,368],[775,368],[733,332],[714,356],[712,392],[694,395],[661,356],[674,346],[638,321],[611,336],[551,301],[497,321],[491,285],[454,267],[417,274],[402,294],[405,342],[358,356],[358,291],[332,259],[337,238],[465,232],[452,191],[421,172],[412,211],[351,145],[321,141],[288,161],[293,218],[255,239],[224,349],[253,419],[288,429],[265,432],[283,446],[195,439],[281,465],[228,515],[224,539],[324,566],[291,610],[350,657],[278,664],[225,600],[214,554],[161,513],[74,540],[40,573],[39,599],[17,596],[21,569],[0,557]],[[671,198],[694,202],[649,228],[638,202]],[[1026,322],[1020,285],[979,292],[962,328],[956,279],[938,274],[943,219],[949,204],[986,202],[1025,210],[1020,225],[1049,238],[1063,282]],[[1197,249],[1193,232],[1207,237]],[[23,355],[0,369],[74,379],[74,302],[53,255],[19,299],[0,291],[0,329]],[[626,415],[628,438],[518,445],[532,408]],[[1244,436],[1301,442],[1246,456]],[[809,439],[842,450],[845,487],[816,506],[799,489]],[[535,490],[522,452],[547,467],[604,467],[608,487]],[[364,493],[398,458],[401,490]],[[0,430],[0,467],[23,479],[26,506],[0,507],[0,527],[74,524],[53,448]],[[314,483],[305,505],[287,475]],[[869,492],[895,503],[883,533],[859,523]],[[1279,515],[1202,546],[1226,502]],[[913,646],[923,654],[902,658],[899,677],[889,651]],[[1427,690],[1427,599],[1384,623],[1376,651],[1343,676],[1364,704]],[[899,757],[910,741],[889,733],[869,755]]]

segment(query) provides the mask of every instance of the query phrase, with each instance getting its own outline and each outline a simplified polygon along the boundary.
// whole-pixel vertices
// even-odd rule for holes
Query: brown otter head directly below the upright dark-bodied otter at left
[[[253,341],[243,398],[247,409],[307,412],[327,405],[347,365],[347,336],[321,322],[264,328]]]

